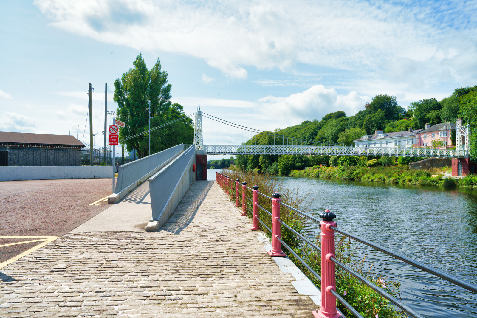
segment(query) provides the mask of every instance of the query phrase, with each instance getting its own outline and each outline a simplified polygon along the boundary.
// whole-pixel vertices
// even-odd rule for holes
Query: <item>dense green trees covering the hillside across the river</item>
[[[365,134],[382,130],[385,133],[424,129],[425,123],[455,123],[462,118],[463,124],[477,127],[477,85],[457,88],[451,96],[441,101],[435,98],[423,99],[411,103],[407,110],[399,106],[395,96],[380,94],[373,97],[364,109],[352,116],[346,116],[343,111],[329,113],[321,120],[313,119],[284,129],[275,129],[273,132],[258,133],[244,144],[259,145],[353,145],[353,140]],[[473,129],[473,128],[471,128]],[[286,138],[284,136],[291,137]],[[456,134],[452,133],[453,144]],[[470,159],[477,161],[477,133],[473,133],[469,140]],[[439,147],[439,145],[434,145]],[[308,166],[328,164],[329,156],[287,156],[287,155],[237,155],[236,169],[239,171],[253,171],[259,169],[266,174],[288,175],[291,170],[301,170]],[[370,158],[379,160],[380,158]],[[422,158],[400,157],[401,161],[418,161]],[[308,161],[307,161],[308,160]],[[384,160],[384,159],[383,159]],[[409,162],[407,162],[408,164]]]

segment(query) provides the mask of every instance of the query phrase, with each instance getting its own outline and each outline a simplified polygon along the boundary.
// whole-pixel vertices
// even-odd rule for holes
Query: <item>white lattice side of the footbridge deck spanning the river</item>
[[[351,146],[297,146],[297,145],[243,145],[205,144],[205,154],[308,154],[340,156],[410,156],[410,157],[467,157],[467,150],[351,147]]]

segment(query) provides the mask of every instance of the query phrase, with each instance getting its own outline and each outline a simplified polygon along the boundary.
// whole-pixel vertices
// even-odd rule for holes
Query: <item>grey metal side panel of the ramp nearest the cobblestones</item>
[[[192,165],[196,158],[195,154],[196,149],[191,145],[165,169],[147,180],[151,193],[151,221],[157,221],[159,227],[167,222],[194,182],[195,173]]]

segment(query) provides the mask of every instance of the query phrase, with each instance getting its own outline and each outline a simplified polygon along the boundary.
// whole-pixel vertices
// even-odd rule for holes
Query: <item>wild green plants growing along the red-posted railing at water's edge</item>
[[[271,178],[268,174],[260,174],[257,171],[238,172],[227,171],[227,174],[232,179],[240,179],[246,181],[251,188],[253,185],[259,186],[259,191],[266,195],[271,195],[273,192],[278,191],[281,194],[280,199],[287,205],[290,205],[296,209],[300,209],[306,212],[308,205],[303,205],[307,194],[302,194],[298,189],[284,189],[283,183],[277,178]],[[247,196],[251,199],[252,193],[248,190]],[[240,198],[241,199],[241,198]],[[270,199],[259,195],[259,205],[266,210],[271,211]],[[246,201],[248,216],[252,217],[252,203],[249,200]],[[271,229],[271,217],[261,209],[259,209],[259,219]],[[304,217],[299,213],[287,209],[285,207],[280,208],[280,219],[293,228],[298,233],[308,236],[312,241],[316,239],[316,245],[321,246],[321,241],[313,234],[303,233]],[[264,226],[260,224],[264,233],[270,238],[271,233],[266,230]],[[319,236],[318,236],[319,237]],[[388,293],[399,297],[399,283],[385,279],[380,275],[370,270],[363,270],[364,259],[359,259],[357,256],[357,247],[344,236],[336,236],[336,253],[335,257],[348,267],[353,268],[355,271],[366,277],[369,281],[376,284],[376,286],[384,288]],[[289,229],[284,226],[281,227],[281,238],[290,246],[295,253],[298,254],[318,275],[321,275],[321,255],[320,253],[302,241]],[[320,286],[320,282],[309,272],[301,263],[296,259],[284,246],[282,250],[290,257],[290,259],[302,270],[303,273],[311,279],[316,285]],[[337,267],[336,270],[336,289],[337,292],[344,297],[344,299],[350,303],[353,308],[358,310],[365,318],[398,318],[403,317],[401,311],[397,311],[393,306],[390,306],[389,301],[384,297],[381,297],[371,288],[365,286],[359,280],[351,276],[348,272]],[[353,317],[340,302],[337,303],[338,308],[346,315],[346,317]],[[405,316],[404,316],[405,317]]]

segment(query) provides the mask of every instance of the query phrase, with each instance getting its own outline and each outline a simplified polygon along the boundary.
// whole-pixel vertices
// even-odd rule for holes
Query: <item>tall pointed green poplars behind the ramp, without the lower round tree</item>
[[[142,54],[133,62],[133,68],[125,72],[121,79],[114,81],[114,102],[118,104],[116,115],[125,123],[120,129],[119,139],[142,133],[148,127],[148,102],[151,102],[151,116],[159,122],[167,120],[171,113],[171,84],[167,83],[167,72],[161,71],[161,62],[148,70]],[[124,142],[128,151],[135,149],[139,157],[148,154],[145,134]],[[152,145],[151,145],[152,148]]]

